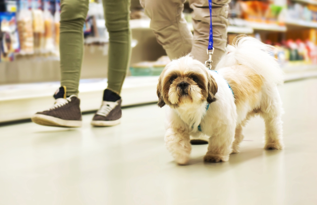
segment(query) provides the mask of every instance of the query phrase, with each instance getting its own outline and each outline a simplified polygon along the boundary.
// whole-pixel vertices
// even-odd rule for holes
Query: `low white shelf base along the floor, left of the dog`
[[[122,88],[122,106],[157,102],[158,76],[127,77]],[[54,103],[52,95],[60,82],[11,84],[0,86],[0,122],[30,118]],[[82,79],[79,85],[81,111],[100,107],[107,79]]]

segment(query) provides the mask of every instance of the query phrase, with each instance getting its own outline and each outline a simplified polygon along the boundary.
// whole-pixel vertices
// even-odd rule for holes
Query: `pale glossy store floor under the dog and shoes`
[[[317,204],[317,79],[279,88],[285,150],[265,151],[252,119],[241,153],[187,166],[165,149],[164,109],[123,110],[116,127],[66,129],[22,123],[0,127],[0,204]]]

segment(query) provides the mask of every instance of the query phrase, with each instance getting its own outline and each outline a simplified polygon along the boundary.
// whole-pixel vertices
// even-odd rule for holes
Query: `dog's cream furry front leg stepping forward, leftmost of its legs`
[[[191,143],[187,131],[175,128],[167,129],[165,145],[178,164],[185,165],[188,162],[191,153]]]

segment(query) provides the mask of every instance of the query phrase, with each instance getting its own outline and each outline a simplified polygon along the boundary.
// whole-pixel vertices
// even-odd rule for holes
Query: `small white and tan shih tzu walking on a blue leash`
[[[226,162],[239,152],[242,127],[255,115],[265,121],[265,149],[282,149],[281,99],[276,85],[283,72],[272,47],[252,37],[237,37],[209,70],[187,55],[171,61],[159,77],[158,105],[169,106],[165,145],[185,165],[190,136],[209,137],[206,162]]]

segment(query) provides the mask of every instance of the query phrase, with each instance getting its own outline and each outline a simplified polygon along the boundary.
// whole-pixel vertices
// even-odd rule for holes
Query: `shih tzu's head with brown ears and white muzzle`
[[[216,101],[217,83],[201,62],[185,56],[173,60],[161,73],[157,86],[158,106],[177,108],[184,103]]]

